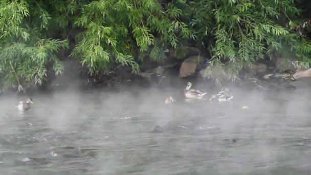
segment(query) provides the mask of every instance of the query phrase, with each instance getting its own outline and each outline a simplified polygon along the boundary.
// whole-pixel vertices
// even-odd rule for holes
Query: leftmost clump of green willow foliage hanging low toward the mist
[[[20,91],[22,82],[40,85],[51,62],[56,75],[63,71],[55,54],[68,48],[68,42],[48,36],[56,18],[43,5],[23,0],[0,2],[0,76],[5,89],[13,85]]]

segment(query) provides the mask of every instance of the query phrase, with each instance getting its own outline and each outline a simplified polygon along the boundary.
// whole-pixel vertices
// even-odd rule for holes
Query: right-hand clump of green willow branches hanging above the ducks
[[[295,1],[200,0],[185,3],[185,10],[198,43],[211,50],[206,77],[220,71],[234,80],[246,63],[284,56],[287,50],[285,56],[303,61],[300,65],[311,62],[310,41],[295,30],[303,20]]]

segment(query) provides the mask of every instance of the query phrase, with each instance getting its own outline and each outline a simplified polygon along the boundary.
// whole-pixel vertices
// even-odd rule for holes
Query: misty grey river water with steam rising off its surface
[[[311,174],[308,95],[164,105],[166,97],[34,95],[25,114],[14,108],[24,98],[1,98],[0,174]],[[151,132],[157,125],[163,132]]]

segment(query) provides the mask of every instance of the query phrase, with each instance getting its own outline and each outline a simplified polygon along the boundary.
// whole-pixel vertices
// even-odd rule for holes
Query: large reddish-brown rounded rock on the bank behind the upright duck
[[[190,56],[187,59],[185,59],[179,71],[180,77],[187,77],[189,75],[194,74],[196,72],[196,66],[198,62],[200,62],[203,59],[204,58],[199,55]]]

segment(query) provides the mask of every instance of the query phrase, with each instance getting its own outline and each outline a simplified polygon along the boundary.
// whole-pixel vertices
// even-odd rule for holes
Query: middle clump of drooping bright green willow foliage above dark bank
[[[82,63],[91,75],[108,70],[110,63],[130,65],[132,73],[139,72],[134,58],[152,47],[150,58],[160,60],[163,50],[176,48],[180,38],[194,35],[187,25],[179,20],[182,10],[168,3],[162,6],[156,0],[110,0],[93,1],[83,6],[82,15],[75,21],[82,27],[79,41],[72,52],[82,56]],[[140,59],[139,59],[140,58]]]

